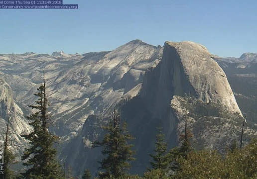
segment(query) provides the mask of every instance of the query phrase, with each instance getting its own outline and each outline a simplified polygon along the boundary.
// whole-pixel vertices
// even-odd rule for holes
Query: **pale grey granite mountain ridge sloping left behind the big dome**
[[[0,77],[22,106],[35,101],[45,67],[53,129],[63,140],[77,135],[90,114],[105,114],[123,96],[136,95],[144,72],[159,62],[161,47],[134,40],[112,52],[0,55]],[[60,56],[61,55],[61,56]]]

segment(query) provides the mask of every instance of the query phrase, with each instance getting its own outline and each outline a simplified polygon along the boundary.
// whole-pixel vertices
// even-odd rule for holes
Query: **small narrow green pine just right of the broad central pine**
[[[156,142],[155,142],[155,154],[150,154],[151,158],[154,162],[150,162],[152,169],[161,169],[166,170],[169,165],[169,156],[166,155],[167,151],[167,143],[164,142],[164,134],[162,134],[161,128],[159,129],[158,134],[156,134]]]

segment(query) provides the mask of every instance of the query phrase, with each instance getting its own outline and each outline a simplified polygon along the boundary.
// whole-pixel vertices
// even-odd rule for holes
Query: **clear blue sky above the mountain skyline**
[[[257,0],[63,0],[78,9],[0,9],[0,54],[111,51],[131,40],[257,53]]]

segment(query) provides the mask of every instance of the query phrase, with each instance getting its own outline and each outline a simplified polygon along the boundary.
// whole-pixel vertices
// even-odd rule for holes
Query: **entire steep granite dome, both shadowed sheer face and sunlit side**
[[[228,111],[241,114],[225,73],[211,56],[204,46],[194,42],[165,42],[162,60],[154,69],[155,74],[146,74],[142,96],[149,97],[148,89],[154,83],[149,84],[148,78],[155,76],[155,84],[158,84],[154,91],[157,93],[156,100],[190,93],[205,103],[222,104]],[[150,92],[149,95],[153,94]]]

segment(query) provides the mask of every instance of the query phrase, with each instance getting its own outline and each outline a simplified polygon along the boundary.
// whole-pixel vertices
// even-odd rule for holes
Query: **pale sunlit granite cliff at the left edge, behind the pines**
[[[10,117],[10,147],[16,153],[22,153],[26,145],[25,140],[20,135],[28,133],[31,128],[24,119],[23,112],[14,102],[10,86],[0,79],[0,133],[6,132],[8,117]],[[0,140],[3,140],[3,135]]]

